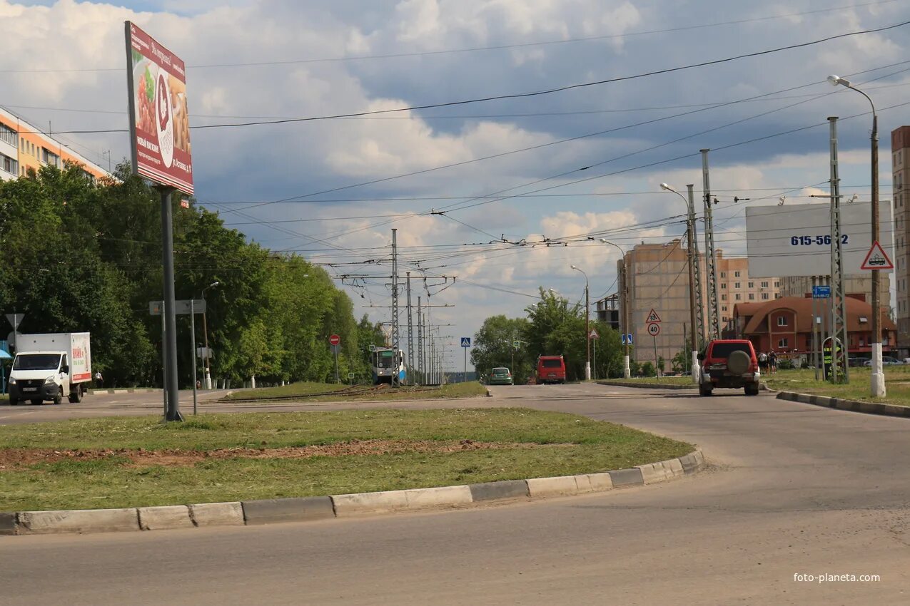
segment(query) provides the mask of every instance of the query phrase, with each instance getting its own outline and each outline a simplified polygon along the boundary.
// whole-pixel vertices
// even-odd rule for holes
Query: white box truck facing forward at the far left
[[[9,373],[9,403],[82,402],[92,380],[89,333],[20,334]]]

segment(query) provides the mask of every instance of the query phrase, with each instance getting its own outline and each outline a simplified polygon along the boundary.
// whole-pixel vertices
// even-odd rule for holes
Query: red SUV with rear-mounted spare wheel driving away
[[[719,339],[708,343],[698,354],[702,376],[698,392],[711,395],[715,387],[743,387],[746,395],[758,395],[758,358],[752,342],[739,339]]]

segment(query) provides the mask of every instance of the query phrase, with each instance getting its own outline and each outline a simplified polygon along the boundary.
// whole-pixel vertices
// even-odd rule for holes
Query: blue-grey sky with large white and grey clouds
[[[357,305],[389,305],[397,228],[415,299],[454,305],[433,321],[455,345],[541,286],[581,299],[571,264],[591,301],[612,293],[618,252],[597,240],[682,234],[659,184],[700,200],[702,148],[727,255],[746,204],[824,191],[827,116],[842,191],[868,199],[869,104],[829,74],[875,100],[883,199],[910,124],[910,25],[847,35],[910,20],[906,0],[0,0],[0,105],[98,164],[127,157],[124,132],[72,132],[126,129],[125,20],[187,64],[201,204],[325,264]]]

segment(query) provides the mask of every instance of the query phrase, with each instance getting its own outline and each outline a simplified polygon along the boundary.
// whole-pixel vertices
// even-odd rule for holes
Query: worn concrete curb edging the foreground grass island
[[[404,491],[360,492],[327,497],[128,509],[0,512],[0,535],[157,531],[197,526],[255,526],[280,522],[311,522],[355,515],[606,492],[614,488],[669,482],[682,475],[698,472],[703,466],[704,456],[701,451],[696,450],[677,459],[639,465],[631,469],[552,478],[413,488]]]

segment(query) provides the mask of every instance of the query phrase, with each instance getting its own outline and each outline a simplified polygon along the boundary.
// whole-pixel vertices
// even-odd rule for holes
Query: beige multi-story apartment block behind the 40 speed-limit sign
[[[717,295],[721,327],[733,321],[736,303],[761,303],[780,296],[779,278],[750,278],[745,257],[717,257]],[[639,363],[663,358],[663,371],[672,370],[673,356],[683,351],[692,334],[689,308],[689,249],[680,240],[669,243],[637,244],[625,254],[628,266],[630,330],[634,343],[633,359]],[[707,272],[704,255],[698,255],[703,276],[702,299],[708,304]],[[625,287],[623,261],[618,262],[621,279],[619,292]],[[622,297],[619,317],[622,322]],[[660,333],[648,333],[648,316],[652,310],[660,317]],[[707,313],[704,314],[707,323]],[[696,330],[699,327],[696,326]],[[656,349],[656,356],[655,356]]]

